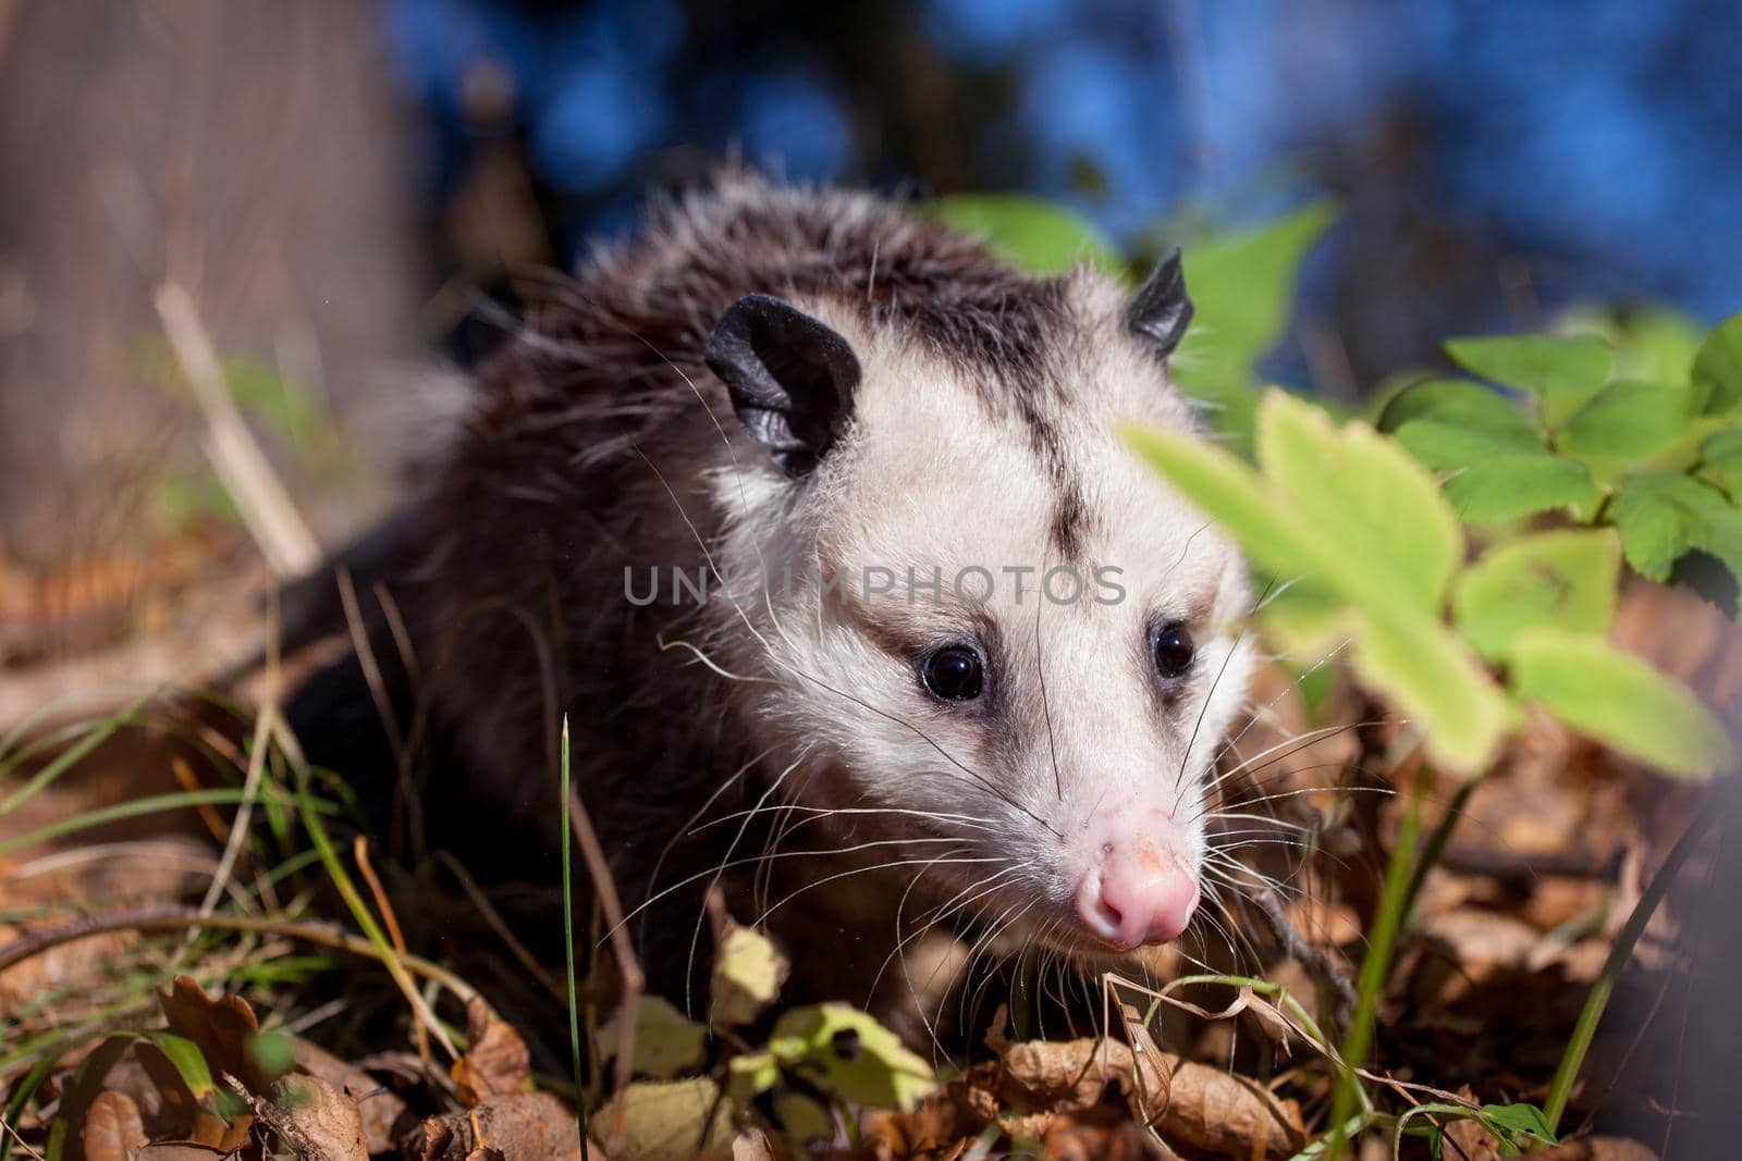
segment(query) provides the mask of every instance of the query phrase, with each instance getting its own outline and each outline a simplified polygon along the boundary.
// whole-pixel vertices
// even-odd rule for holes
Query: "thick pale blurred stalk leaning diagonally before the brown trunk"
[[[157,287],[152,303],[206,418],[206,458],[235,501],[260,554],[279,576],[300,576],[314,569],[321,562],[321,545],[225,390],[223,366],[200,325],[193,298],[181,284],[165,282]]]

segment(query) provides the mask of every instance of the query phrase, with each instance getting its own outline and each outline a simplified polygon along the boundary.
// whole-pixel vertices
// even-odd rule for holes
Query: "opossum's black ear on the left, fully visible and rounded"
[[[854,348],[779,298],[749,294],[726,306],[706,357],[751,439],[794,479],[817,466],[852,418]]]

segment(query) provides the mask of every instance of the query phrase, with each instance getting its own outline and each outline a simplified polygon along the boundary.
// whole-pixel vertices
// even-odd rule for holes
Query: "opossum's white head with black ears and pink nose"
[[[1246,569],[1120,432],[1193,425],[1165,371],[1178,259],[1134,296],[1089,270],[1026,287],[721,317],[709,366],[742,421],[712,479],[721,635],[761,677],[780,801],[836,848],[934,907],[1129,950],[1200,902]]]

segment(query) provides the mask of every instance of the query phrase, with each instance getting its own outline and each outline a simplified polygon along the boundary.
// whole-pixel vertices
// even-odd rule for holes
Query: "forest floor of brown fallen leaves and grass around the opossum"
[[[0,1161],[573,1156],[577,1097],[613,1158],[1326,1156],[1340,1083],[1362,1161],[1496,1158],[1538,1144],[1587,996],[1705,802],[1547,719],[1479,782],[1442,778],[1341,677],[1308,714],[1273,668],[1233,783],[1301,841],[1254,860],[1277,888],[1237,929],[1089,980],[1113,1036],[1035,1039],[1017,973],[934,1084],[852,1013],[765,1011],[779,952],[716,916],[744,1015],[704,1037],[645,1001],[618,1037],[598,916],[570,916],[571,1001],[530,950],[564,912],[526,929],[463,867],[488,851],[402,867],[327,837],[343,789],[273,714],[300,660],[246,665],[272,623],[249,560],[213,534],[54,576],[0,562]],[[1721,703],[1728,628],[1650,587],[1620,621]],[[1406,827],[1428,856],[1357,1072],[1341,1029]],[[1679,1062],[1648,1030],[1697,1020],[1686,914],[1672,891],[1632,947],[1538,1156],[1669,1149]]]

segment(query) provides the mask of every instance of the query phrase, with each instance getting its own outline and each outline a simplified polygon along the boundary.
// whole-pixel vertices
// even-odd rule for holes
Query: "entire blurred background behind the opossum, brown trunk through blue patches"
[[[165,280],[331,543],[463,399],[432,353],[730,158],[1040,266],[1183,245],[1233,432],[1254,359],[1371,414],[1570,320],[1674,379],[1739,305],[1739,44],[1721,0],[0,0],[0,576],[221,515]]]

